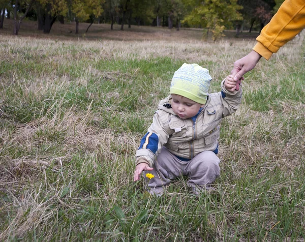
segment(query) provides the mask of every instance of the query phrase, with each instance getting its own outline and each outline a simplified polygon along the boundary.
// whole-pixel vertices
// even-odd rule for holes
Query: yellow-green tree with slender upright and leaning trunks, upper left
[[[75,14],[75,34],[78,34],[79,21],[86,21],[90,19],[90,25],[93,24],[95,17],[99,17],[102,12],[102,4],[104,0],[73,0],[72,2],[72,13]],[[86,32],[87,32],[86,31]]]

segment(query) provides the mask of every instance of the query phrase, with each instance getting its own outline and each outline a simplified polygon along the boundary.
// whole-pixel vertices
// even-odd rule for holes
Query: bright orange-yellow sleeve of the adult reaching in
[[[286,0],[262,29],[253,50],[269,59],[305,27],[305,1]]]

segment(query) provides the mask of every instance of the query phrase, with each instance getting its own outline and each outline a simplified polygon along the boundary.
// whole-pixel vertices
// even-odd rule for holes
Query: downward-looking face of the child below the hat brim
[[[199,109],[204,106],[204,104],[197,103],[180,95],[172,94],[171,97],[171,107],[174,113],[182,119],[195,116]]]

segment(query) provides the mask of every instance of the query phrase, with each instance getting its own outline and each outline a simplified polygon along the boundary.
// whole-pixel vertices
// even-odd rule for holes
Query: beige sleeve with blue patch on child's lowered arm
[[[141,139],[139,149],[136,152],[136,165],[139,160],[145,160],[152,167],[163,145],[167,143],[169,134],[165,126],[168,125],[168,122],[162,120],[164,116],[159,115],[158,112],[155,113],[153,123],[148,128],[148,132]]]

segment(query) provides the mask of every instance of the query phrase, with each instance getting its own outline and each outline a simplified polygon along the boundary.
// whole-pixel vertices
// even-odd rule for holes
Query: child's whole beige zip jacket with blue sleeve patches
[[[192,159],[204,150],[215,152],[218,149],[222,118],[235,112],[241,103],[241,88],[230,93],[225,89],[224,81],[221,88],[222,92],[208,96],[195,122],[192,118],[181,119],[172,108],[163,106],[170,103],[170,97],[160,101],[153,124],[136,152],[136,165],[145,160],[149,166],[153,166],[163,146],[172,154],[185,159]]]

